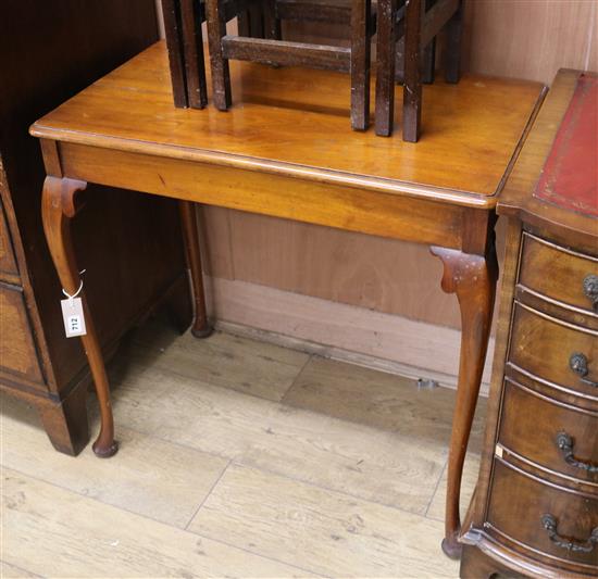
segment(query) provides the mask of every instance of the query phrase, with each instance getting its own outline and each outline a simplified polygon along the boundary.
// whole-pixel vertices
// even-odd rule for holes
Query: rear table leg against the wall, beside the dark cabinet
[[[205,307],[205,290],[203,288],[203,273],[201,267],[201,251],[199,231],[197,227],[196,205],[190,201],[179,201],[180,223],[187,252],[187,263],[191,274],[191,286],[195,304],[195,318],[191,333],[196,338],[208,338],[212,333],[212,326],[208,320]]]

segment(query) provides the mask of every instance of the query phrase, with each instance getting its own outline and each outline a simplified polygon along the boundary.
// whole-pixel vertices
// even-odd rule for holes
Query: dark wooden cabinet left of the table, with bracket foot
[[[153,0],[18,0],[0,7],[0,389],[39,410],[53,445],[88,441],[87,361],[64,337],[41,226],[41,151],[29,125],[158,38]],[[117,201],[116,201],[117,200]],[[89,187],[73,224],[104,352],[166,301],[191,306],[175,203]],[[105,231],[110,235],[105,235]]]

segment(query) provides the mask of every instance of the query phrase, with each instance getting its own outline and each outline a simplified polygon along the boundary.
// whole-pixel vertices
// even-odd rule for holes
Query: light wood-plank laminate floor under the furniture
[[[109,461],[54,452],[0,399],[0,577],[458,577],[439,546],[451,390],[158,322],[110,374]]]

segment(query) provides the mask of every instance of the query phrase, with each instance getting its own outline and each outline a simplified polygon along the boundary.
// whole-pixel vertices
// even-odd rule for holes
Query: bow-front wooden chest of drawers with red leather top
[[[561,71],[498,203],[509,232],[464,578],[598,576],[597,109],[598,77]]]

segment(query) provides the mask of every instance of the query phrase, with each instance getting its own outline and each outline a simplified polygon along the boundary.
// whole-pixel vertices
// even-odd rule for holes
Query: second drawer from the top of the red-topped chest
[[[535,378],[598,400],[598,332],[515,302],[509,364]]]

